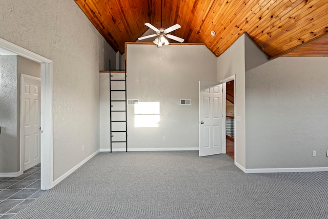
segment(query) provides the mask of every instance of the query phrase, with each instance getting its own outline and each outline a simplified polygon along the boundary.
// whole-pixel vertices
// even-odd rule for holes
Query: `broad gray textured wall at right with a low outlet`
[[[279,57],[246,72],[248,169],[328,166],[327,69],[328,57]]]

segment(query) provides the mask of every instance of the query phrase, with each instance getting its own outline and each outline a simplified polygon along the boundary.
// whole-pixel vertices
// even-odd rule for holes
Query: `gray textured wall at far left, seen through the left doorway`
[[[17,153],[17,56],[0,55],[0,173],[16,173]],[[18,168],[18,169],[17,169]]]

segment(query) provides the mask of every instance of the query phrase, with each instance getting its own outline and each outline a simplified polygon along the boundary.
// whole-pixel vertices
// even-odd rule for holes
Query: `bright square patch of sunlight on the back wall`
[[[134,105],[134,127],[158,127],[159,102],[139,102]]]

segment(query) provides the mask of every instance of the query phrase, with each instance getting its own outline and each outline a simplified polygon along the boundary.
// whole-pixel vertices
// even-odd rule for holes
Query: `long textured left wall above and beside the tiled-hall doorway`
[[[115,52],[74,1],[3,0],[0,26],[0,37],[53,61],[56,180],[99,148],[98,72]]]

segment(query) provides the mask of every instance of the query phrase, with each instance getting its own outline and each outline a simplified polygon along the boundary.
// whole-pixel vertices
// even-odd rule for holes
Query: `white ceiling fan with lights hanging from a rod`
[[[162,18],[162,1],[160,1],[160,20],[161,20],[161,26],[163,26],[162,22],[163,22],[163,18]],[[139,37],[139,41],[141,41],[142,39],[147,39],[147,38],[151,38],[151,37],[154,37],[154,36],[157,36],[155,38],[155,40],[153,41],[154,44],[157,45],[157,47],[162,47],[163,45],[169,45],[169,41],[166,37],[170,38],[170,39],[174,39],[175,41],[177,42],[180,42],[182,43],[183,41],[185,41],[185,39],[182,39],[180,37],[177,37],[177,36],[174,36],[174,35],[171,35],[169,34],[170,32],[176,30],[176,29],[179,29],[181,26],[178,25],[178,24],[175,24],[167,29],[165,28],[156,28],[154,27],[153,25],[149,24],[149,23],[146,23],[145,24],[147,27],[149,27],[150,29],[154,30],[156,33],[155,34],[151,34],[151,35],[147,35],[147,36],[142,36],[142,37]]]

